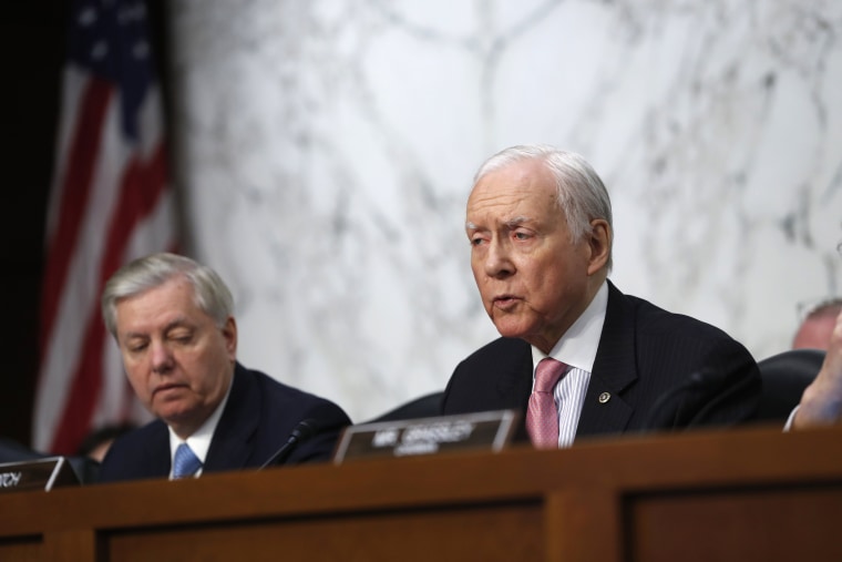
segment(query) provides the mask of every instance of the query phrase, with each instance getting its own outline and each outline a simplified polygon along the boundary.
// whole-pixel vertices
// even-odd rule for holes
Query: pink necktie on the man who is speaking
[[[535,387],[526,409],[526,431],[532,445],[538,449],[558,447],[558,409],[553,399],[553,388],[566,368],[562,361],[547,357],[535,369]]]

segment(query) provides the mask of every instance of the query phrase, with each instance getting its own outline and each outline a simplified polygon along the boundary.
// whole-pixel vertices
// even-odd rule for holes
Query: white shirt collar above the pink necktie
[[[603,335],[603,325],[605,324],[605,313],[608,308],[608,283],[603,282],[599,290],[594,295],[591,304],[585,311],[573,323],[567,331],[550,350],[550,355],[544,355],[535,346],[532,346],[532,367],[544,359],[552,357],[573,368],[593,372],[594,361],[596,360],[596,350],[599,347],[599,338]]]

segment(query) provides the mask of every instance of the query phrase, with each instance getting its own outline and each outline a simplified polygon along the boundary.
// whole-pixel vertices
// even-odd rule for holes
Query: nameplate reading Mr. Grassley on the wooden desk
[[[517,418],[514,410],[499,410],[350,426],[337,443],[333,463],[468,449],[496,452],[511,440]]]

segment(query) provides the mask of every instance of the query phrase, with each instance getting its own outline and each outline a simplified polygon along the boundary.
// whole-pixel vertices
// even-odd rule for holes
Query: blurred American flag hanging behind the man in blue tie
[[[122,264],[177,239],[145,2],[76,0],[69,28],[32,438],[58,454],[74,453],[96,427],[147,419],[100,294]]]

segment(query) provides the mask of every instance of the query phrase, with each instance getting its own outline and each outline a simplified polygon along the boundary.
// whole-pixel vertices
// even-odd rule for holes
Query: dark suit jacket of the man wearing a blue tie
[[[292,449],[287,463],[329,459],[339,432],[351,421],[333,402],[237,364],[202,473],[263,466],[307,418],[322,430]],[[111,446],[99,481],[166,478],[170,463],[170,432],[155,420]]]

